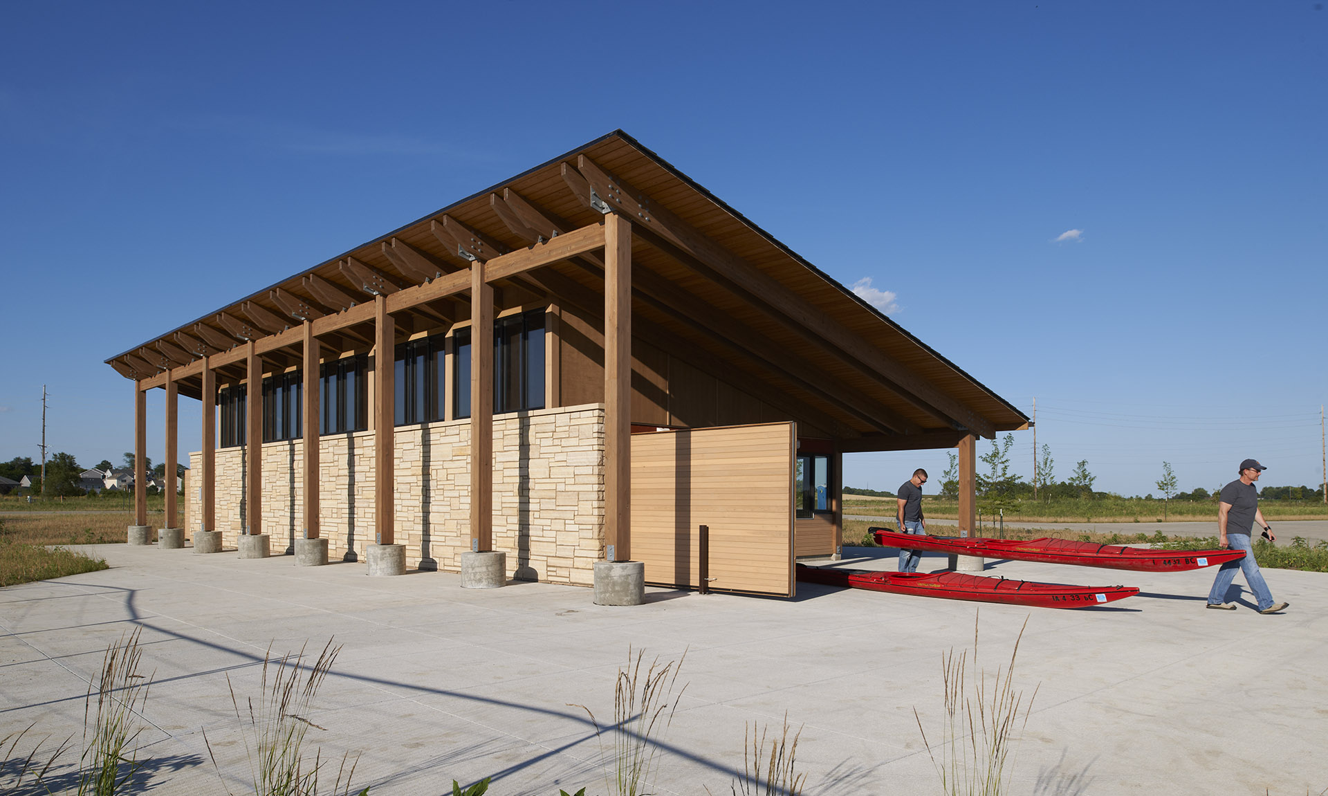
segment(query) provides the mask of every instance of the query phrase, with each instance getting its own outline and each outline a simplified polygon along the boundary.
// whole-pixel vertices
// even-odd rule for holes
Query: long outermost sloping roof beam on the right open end
[[[680,258],[684,263],[696,267],[699,272],[742,296],[790,331],[871,376],[882,387],[928,415],[959,427],[957,429],[968,429],[984,437],[995,436],[992,423],[963,401],[871,346],[789,287],[695,230],[668,209],[656,205],[649,195],[600,169],[588,157],[578,155],[575,170],[563,163],[563,179],[588,206],[600,213],[625,215],[632,221],[632,231],[643,239],[671,254],[684,255]]]

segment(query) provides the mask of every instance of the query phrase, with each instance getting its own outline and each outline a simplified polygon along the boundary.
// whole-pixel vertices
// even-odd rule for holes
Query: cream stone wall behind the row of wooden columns
[[[470,421],[398,427],[396,541],[406,565],[458,571],[470,549]],[[321,536],[332,561],[364,561],[374,540],[373,432],[320,440]],[[244,530],[244,448],[216,450],[216,530],[228,547]],[[201,453],[190,456],[198,473]],[[304,441],[263,445],[263,533],[272,554],[304,534]],[[199,512],[199,484],[186,493]],[[494,417],[494,550],[510,577],[591,585],[604,545],[604,409],[602,404]]]

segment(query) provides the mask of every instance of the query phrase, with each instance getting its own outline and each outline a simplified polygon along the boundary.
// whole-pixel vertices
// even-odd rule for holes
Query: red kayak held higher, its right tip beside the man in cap
[[[1042,563],[1077,563],[1105,569],[1129,569],[1145,573],[1178,573],[1216,566],[1244,557],[1243,550],[1149,550],[1125,545],[1097,545],[1069,540],[989,540],[983,537],[952,538],[898,533],[887,528],[869,528],[876,544],[904,550],[936,550],[981,558],[1040,561]]]

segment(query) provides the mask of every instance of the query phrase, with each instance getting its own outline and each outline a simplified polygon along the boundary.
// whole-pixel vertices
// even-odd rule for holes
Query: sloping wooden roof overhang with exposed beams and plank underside
[[[633,334],[736,383],[845,450],[951,447],[1028,417],[622,130],[449,205],[106,360],[143,388],[198,397],[201,357],[242,377],[244,343],[296,361],[372,340],[374,295],[398,335],[469,318],[470,264],[499,304],[603,314],[603,217],[632,222]],[[809,433],[809,436],[818,436]]]

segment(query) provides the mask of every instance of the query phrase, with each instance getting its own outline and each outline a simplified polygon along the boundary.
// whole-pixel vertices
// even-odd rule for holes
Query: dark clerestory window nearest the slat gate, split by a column
[[[457,417],[470,417],[471,331],[456,335],[453,404]],[[494,322],[494,412],[544,408],[544,311],[509,315]]]

